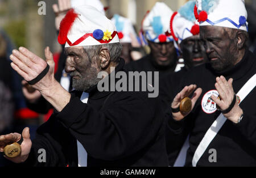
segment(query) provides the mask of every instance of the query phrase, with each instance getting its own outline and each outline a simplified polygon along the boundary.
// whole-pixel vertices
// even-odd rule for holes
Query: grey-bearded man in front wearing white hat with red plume
[[[157,101],[147,92],[100,92],[97,87],[98,74],[111,76],[125,64],[119,58],[122,46],[113,23],[94,7],[76,7],[62,20],[58,40],[66,44],[65,70],[76,89],[72,94],[54,79],[49,48],[47,63],[25,48],[11,56],[11,66],[56,112],[38,129],[34,141],[24,129],[22,152],[9,159],[33,166],[166,166],[163,116]],[[20,136],[2,135],[1,151]],[[38,161],[42,149],[46,159]]]

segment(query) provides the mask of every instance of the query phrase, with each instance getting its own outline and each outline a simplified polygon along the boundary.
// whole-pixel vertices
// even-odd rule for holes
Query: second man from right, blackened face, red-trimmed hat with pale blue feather
[[[171,17],[171,32],[175,39],[175,46],[184,59],[184,67],[177,73],[168,73],[160,78],[160,98],[166,106],[167,113],[170,111],[172,100],[178,91],[175,91],[183,80],[185,73],[192,67],[201,65],[207,61],[204,45],[199,36],[199,23],[194,15],[194,7],[196,0],[188,1],[182,6],[179,11],[174,12]],[[167,153],[169,157],[170,166],[182,166],[184,162],[176,159],[181,146],[188,135],[188,130],[184,129],[183,134],[173,134],[170,129],[166,129],[166,143]],[[188,144],[186,143],[186,146]],[[184,150],[184,151],[183,151]],[[187,147],[184,147],[183,153],[185,155]],[[176,162],[175,162],[176,160]]]

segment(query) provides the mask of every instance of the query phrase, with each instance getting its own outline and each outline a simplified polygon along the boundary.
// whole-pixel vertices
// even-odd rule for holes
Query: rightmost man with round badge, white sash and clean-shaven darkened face
[[[246,47],[245,2],[197,1],[195,17],[210,62],[185,75],[168,126],[179,133],[191,122],[187,166],[255,166],[256,60]],[[192,111],[181,113],[194,90]]]

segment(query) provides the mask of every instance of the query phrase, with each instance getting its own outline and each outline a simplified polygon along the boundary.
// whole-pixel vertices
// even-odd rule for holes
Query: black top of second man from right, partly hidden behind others
[[[177,91],[177,86],[184,79],[187,69],[183,67],[180,71],[176,73],[168,73],[159,80],[159,98],[162,101],[162,107],[166,113],[166,121],[170,119],[171,103],[174,97],[179,91]],[[168,127],[168,124],[167,124]],[[185,127],[187,128],[187,127]],[[166,129],[166,149],[169,159],[169,166],[174,166],[175,160],[179,155],[181,147],[188,136],[188,130],[183,130],[183,132],[176,133],[175,130]]]

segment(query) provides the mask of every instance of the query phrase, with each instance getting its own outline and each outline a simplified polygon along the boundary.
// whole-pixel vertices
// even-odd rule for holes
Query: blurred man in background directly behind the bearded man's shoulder
[[[156,2],[142,21],[142,41],[150,46],[150,54],[126,66],[129,71],[159,71],[159,76],[175,71],[177,53],[170,32],[173,11],[163,2]],[[146,37],[146,39],[144,39]]]

